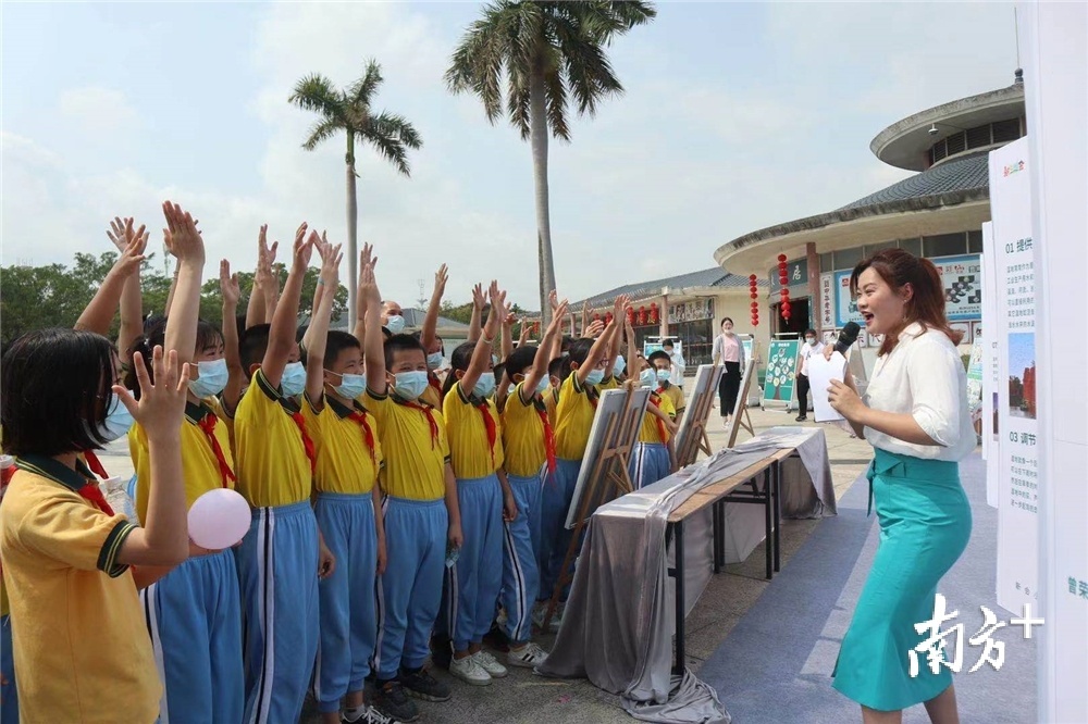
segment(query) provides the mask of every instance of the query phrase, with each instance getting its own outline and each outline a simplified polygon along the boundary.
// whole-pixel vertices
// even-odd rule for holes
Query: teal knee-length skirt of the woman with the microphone
[[[912,677],[910,651],[928,637],[914,625],[932,619],[937,584],[967,547],[970,503],[954,462],[876,450],[868,478],[880,546],[831,675],[863,707],[895,711],[952,684],[947,666],[932,673],[925,652]]]

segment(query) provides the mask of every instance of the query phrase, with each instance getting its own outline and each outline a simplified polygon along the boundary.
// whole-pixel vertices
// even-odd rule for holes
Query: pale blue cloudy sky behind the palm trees
[[[915,111],[1006,86],[1013,11],[999,3],[658,3],[619,38],[627,92],[573,123],[549,157],[560,294],[714,265],[749,232],[828,211],[908,175],[869,140]],[[382,63],[378,105],[424,147],[412,178],[359,155],[360,241],[386,297],[450,266],[448,297],[497,277],[536,305],[527,143],[490,126],[442,73],[475,3],[4,2],[2,263],[106,251],[107,221],[161,226],[170,198],[201,220],[209,259],[250,269],[268,222],[343,239],[344,141],[299,143],[300,76],[341,85]],[[213,267],[209,266],[209,274]]]

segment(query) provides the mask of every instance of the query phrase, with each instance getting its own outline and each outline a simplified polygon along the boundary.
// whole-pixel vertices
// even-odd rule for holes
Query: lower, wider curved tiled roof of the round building
[[[714,259],[738,274],[774,265],[779,253],[804,253],[809,241],[832,251],[877,240],[978,228],[990,219],[986,151],[928,168],[852,203],[768,226],[724,244]],[[934,213],[940,212],[940,213]]]

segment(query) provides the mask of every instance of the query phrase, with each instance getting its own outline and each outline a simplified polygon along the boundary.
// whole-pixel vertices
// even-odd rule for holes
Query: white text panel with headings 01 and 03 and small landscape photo
[[[1038,425],[1035,364],[1035,241],[1028,141],[990,152],[990,212],[997,277],[998,410],[998,604],[1021,613],[1036,607],[1038,582]],[[991,253],[992,252],[992,253]]]

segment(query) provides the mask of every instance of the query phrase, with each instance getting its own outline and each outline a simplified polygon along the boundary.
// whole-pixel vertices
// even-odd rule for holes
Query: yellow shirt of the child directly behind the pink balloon
[[[205,402],[185,403],[185,420],[182,423],[182,471],[185,474],[185,502],[191,505],[197,498],[217,488],[234,489],[234,480],[224,476],[215,457],[211,438],[205,432],[202,421],[211,420],[211,434],[219,445],[223,462],[234,473],[234,453],[231,451],[231,436],[226,425]],[[151,490],[151,460],[148,455],[147,433],[137,423],[128,428],[128,452],[136,467],[136,514],[140,522],[147,522],[147,503]]]

